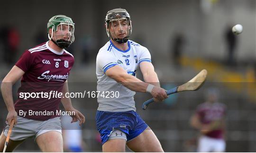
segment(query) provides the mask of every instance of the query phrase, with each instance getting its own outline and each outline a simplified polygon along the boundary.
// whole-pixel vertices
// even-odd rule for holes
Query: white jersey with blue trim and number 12
[[[110,112],[136,111],[134,101],[135,92],[117,83],[107,76],[105,72],[109,68],[119,65],[128,74],[136,76],[136,70],[139,64],[144,61],[151,62],[149,51],[146,47],[130,40],[128,41],[128,49],[126,51],[119,50],[111,41],[107,42],[100,49],[96,60],[97,91],[118,91],[119,96],[117,97],[117,94],[115,94],[114,98],[98,96],[98,110]]]

